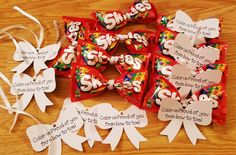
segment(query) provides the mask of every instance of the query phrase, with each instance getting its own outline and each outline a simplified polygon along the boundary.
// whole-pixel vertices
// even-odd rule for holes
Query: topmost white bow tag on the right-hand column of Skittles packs
[[[185,12],[178,10],[173,21],[173,30],[184,32],[188,36],[195,37],[199,28],[199,34],[206,38],[217,38],[220,35],[219,19],[210,18],[194,22]]]

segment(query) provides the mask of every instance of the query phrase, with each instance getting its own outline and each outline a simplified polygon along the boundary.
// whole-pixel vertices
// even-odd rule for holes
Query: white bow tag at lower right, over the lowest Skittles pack
[[[193,102],[183,108],[183,105],[175,99],[163,99],[160,104],[158,119],[171,122],[161,132],[161,135],[167,135],[169,142],[171,142],[183,124],[188,138],[193,145],[196,145],[197,139],[206,139],[196,124],[209,125],[212,121],[212,108],[212,102],[206,100]]]

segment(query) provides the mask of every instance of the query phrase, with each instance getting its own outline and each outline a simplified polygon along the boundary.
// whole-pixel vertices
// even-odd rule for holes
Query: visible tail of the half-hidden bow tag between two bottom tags
[[[87,137],[88,144],[90,148],[93,147],[95,141],[102,141],[101,136],[98,134],[98,131],[94,124],[85,122],[84,123],[84,131]]]

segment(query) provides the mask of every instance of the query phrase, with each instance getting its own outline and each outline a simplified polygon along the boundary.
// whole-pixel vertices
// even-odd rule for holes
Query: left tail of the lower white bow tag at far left
[[[33,93],[24,93],[21,98],[15,104],[12,105],[12,107],[22,111],[25,110],[26,107],[29,105],[33,95]]]

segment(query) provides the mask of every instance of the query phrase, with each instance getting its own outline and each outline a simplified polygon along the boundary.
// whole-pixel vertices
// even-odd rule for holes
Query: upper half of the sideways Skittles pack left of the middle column
[[[63,16],[63,20],[66,37],[73,46],[76,46],[78,39],[85,39],[87,30],[97,29],[97,23],[92,19]]]

